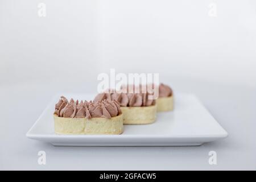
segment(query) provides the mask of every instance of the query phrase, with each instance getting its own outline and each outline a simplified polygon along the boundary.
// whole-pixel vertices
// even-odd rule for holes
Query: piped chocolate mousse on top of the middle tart
[[[142,107],[155,105],[155,100],[148,100],[148,93],[100,93],[93,103],[115,101],[122,107]]]

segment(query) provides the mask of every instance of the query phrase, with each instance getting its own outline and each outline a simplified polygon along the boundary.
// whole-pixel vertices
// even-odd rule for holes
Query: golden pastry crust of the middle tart
[[[123,124],[149,124],[156,119],[156,105],[143,107],[121,107]]]

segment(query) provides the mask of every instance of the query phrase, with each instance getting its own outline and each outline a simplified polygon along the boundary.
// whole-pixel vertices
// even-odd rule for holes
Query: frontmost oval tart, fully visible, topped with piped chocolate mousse
[[[123,114],[116,101],[70,101],[61,96],[53,114],[56,134],[121,134]]]

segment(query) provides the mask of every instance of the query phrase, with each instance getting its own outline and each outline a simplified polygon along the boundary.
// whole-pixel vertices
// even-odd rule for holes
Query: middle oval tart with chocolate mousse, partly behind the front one
[[[155,100],[148,100],[148,93],[100,93],[93,102],[102,100],[118,102],[123,124],[148,124],[156,119]]]

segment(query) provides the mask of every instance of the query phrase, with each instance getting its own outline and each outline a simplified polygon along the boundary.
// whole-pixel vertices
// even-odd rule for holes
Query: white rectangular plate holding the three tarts
[[[69,94],[67,98],[92,100],[89,94]],[[27,137],[55,146],[200,146],[225,138],[228,133],[193,94],[175,94],[174,111],[158,113],[149,125],[125,125],[121,135],[58,135],[52,113],[55,97],[27,133]]]

